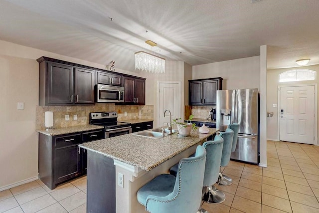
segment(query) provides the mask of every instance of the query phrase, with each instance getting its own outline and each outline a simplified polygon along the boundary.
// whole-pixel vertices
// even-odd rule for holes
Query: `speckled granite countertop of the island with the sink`
[[[198,142],[205,141],[216,132],[216,129],[209,128],[209,133],[202,134],[197,129],[192,130],[188,137],[181,137],[174,133],[159,139],[132,133],[83,143],[79,147],[150,171]]]

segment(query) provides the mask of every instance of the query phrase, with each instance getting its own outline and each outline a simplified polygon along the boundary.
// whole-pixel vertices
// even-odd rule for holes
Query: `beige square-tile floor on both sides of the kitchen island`
[[[203,204],[210,213],[319,213],[319,146],[267,142],[268,168],[230,161],[233,179],[222,204]],[[86,177],[49,190],[33,181],[0,192],[0,213],[85,213]]]

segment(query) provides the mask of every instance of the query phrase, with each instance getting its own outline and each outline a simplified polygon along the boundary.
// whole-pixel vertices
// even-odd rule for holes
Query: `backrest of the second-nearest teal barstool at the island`
[[[203,143],[203,147],[206,150],[203,187],[212,186],[218,180],[223,142],[224,139],[220,135],[216,135],[214,141],[207,141]]]

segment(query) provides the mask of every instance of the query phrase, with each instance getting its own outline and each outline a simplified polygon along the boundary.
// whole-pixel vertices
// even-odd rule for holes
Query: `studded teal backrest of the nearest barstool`
[[[172,193],[165,197],[148,196],[146,209],[151,213],[196,213],[200,207],[206,151],[197,146],[194,157],[179,161]]]

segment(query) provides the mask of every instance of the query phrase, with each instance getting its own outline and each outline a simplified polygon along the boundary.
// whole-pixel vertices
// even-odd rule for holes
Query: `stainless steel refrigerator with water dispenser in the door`
[[[216,128],[238,123],[238,139],[231,159],[259,164],[258,89],[217,90]]]

